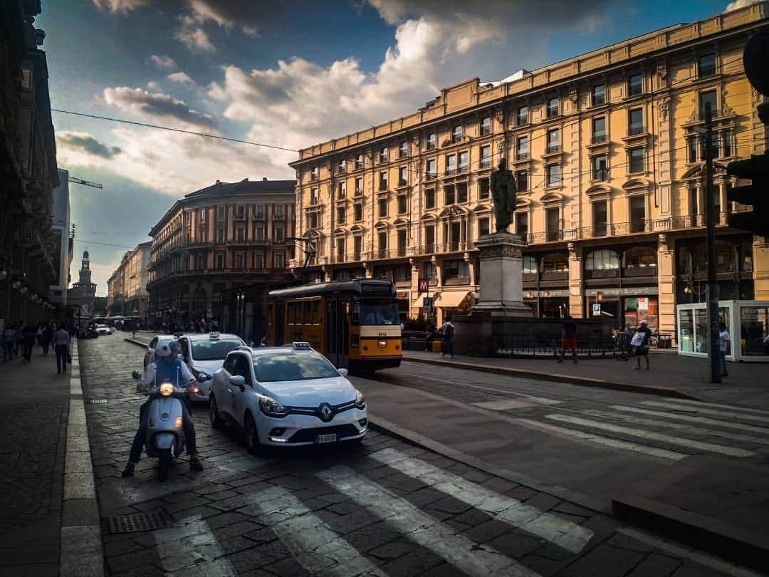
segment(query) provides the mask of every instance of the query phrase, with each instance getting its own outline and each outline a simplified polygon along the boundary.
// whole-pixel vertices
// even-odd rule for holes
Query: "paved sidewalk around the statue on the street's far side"
[[[636,359],[628,361],[580,359],[575,365],[569,359],[559,363],[553,359],[505,359],[457,355],[443,359],[437,352],[404,351],[404,360],[456,366],[484,372],[501,372],[521,379],[571,382],[574,385],[641,392],[678,399],[729,402],[769,408],[769,364],[727,363],[729,376],[721,384],[706,381],[707,359],[677,355],[674,350],[652,350],[651,370],[635,370]]]

